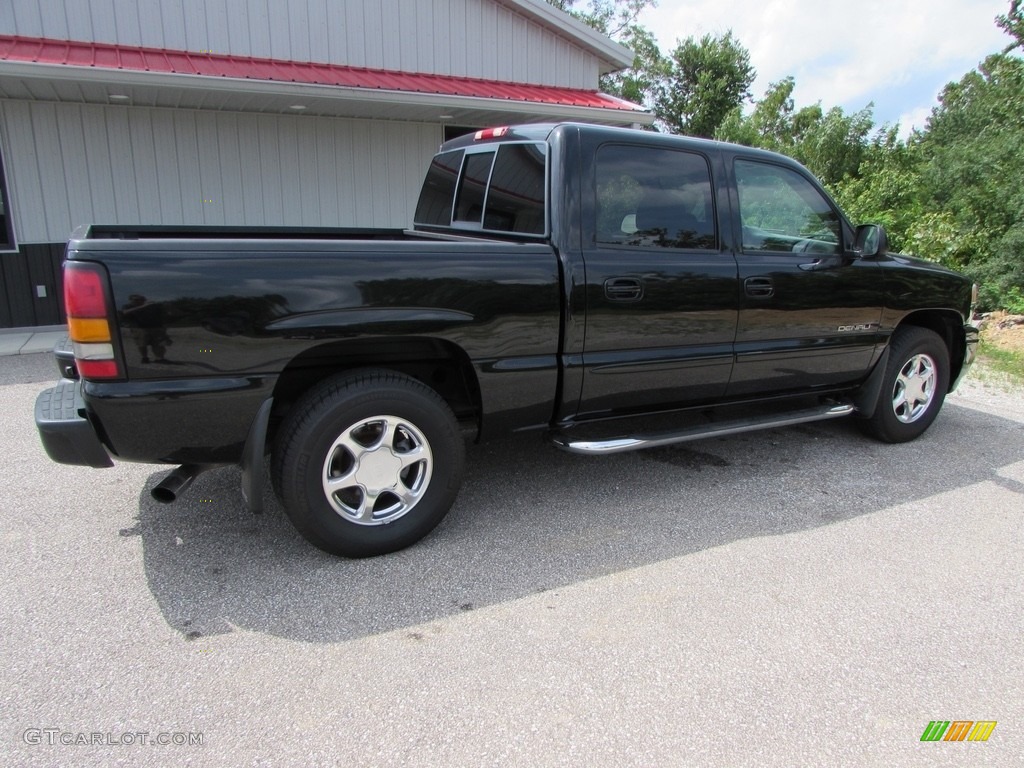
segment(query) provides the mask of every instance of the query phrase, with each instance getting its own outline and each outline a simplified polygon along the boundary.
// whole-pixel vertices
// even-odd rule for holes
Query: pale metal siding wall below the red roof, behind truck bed
[[[408,226],[440,127],[0,101],[20,243],[79,224]]]

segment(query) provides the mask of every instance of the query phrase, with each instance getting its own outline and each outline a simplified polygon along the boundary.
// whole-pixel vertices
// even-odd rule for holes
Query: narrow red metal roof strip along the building
[[[574,88],[9,35],[0,35],[0,60],[471,96],[601,110],[632,112],[640,109],[605,93]]]

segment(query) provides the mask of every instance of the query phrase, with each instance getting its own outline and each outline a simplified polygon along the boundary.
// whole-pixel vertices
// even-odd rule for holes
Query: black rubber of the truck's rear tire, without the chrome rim
[[[463,442],[446,403],[415,380],[387,377],[340,382],[333,395],[308,409],[283,457],[282,496],[292,522],[310,542],[333,554],[370,557],[408,547],[429,534],[455,502]],[[322,473],[337,437],[360,421],[382,415],[408,420],[430,445],[433,466],[426,492],[404,515],[361,525],[342,517],[324,494]]]

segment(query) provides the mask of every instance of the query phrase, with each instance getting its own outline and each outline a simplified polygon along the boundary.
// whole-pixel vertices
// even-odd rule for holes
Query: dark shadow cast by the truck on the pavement
[[[239,473],[139,500],[150,589],[187,640],[233,629],[327,643],[414,628],[740,539],[811,529],[982,481],[1024,460],[1022,425],[953,403],[922,439],[883,445],[847,420],[603,458],[537,436],[477,446],[456,506],[419,545],[343,560],[313,549]],[[1011,481],[1012,482],[1012,481]],[[1024,487],[1020,490],[1024,493]]]

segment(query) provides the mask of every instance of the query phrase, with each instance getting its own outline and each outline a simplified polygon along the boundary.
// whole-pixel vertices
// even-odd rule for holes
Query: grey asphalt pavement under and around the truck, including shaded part
[[[433,535],[349,561],[233,469],[163,506],[159,467],[51,463],[55,376],[0,358],[0,765],[1021,764],[1020,390],[903,445],[476,446]]]

